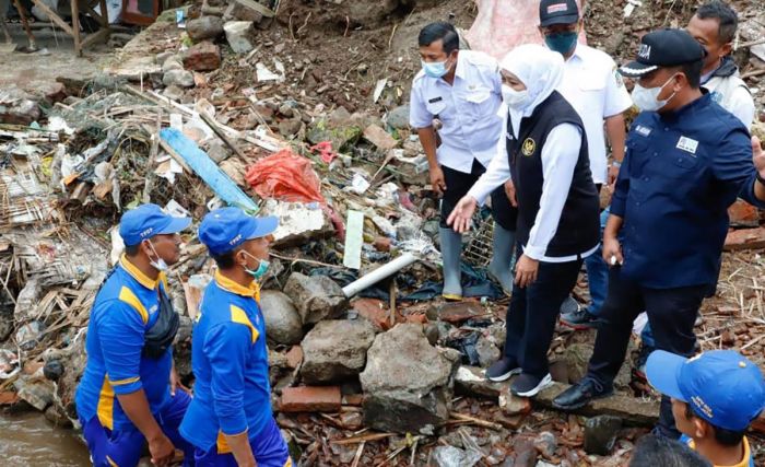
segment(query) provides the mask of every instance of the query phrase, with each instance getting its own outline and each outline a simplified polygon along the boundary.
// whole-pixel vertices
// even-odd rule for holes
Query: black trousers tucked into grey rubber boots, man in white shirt
[[[440,226],[448,229],[446,220],[455,209],[455,206],[468,194],[479,177],[486,172],[486,168],[478,162],[478,159],[473,159],[473,166],[469,174],[443,165],[440,168],[444,171],[444,182],[446,183],[446,191],[444,191],[444,198],[440,203]],[[516,231],[518,210],[507,199],[505,187],[501,186],[492,191],[492,217],[503,229],[510,232]]]

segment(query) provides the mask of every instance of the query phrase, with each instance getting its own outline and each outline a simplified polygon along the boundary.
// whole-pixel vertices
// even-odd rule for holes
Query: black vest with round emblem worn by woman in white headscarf
[[[592,249],[600,238],[600,198],[590,173],[585,128],[574,107],[557,91],[521,119],[518,138],[513,138],[513,124],[507,119],[507,156],[518,200],[516,240],[520,245],[528,243],[539,212],[544,183],[542,148],[550,131],[561,124],[581,129],[581,148],[557,230],[544,254],[548,257],[582,254]]]

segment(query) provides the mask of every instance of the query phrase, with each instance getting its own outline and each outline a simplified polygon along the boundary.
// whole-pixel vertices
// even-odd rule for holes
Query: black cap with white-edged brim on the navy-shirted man
[[[659,68],[676,67],[704,58],[706,50],[685,30],[659,30],[640,39],[637,59],[622,66],[619,72],[639,78]]]

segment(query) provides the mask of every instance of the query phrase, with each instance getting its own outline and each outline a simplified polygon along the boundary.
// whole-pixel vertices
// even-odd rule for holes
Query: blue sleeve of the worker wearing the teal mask
[[[213,410],[223,434],[247,431],[244,369],[250,339],[247,327],[226,323],[211,329],[204,341],[204,353],[212,367]]]

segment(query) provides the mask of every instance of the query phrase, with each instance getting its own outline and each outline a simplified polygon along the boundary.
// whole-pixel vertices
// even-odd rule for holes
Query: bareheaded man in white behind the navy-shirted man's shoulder
[[[722,108],[751,128],[754,100],[730,57],[738,25],[735,11],[727,3],[714,0],[696,11],[686,30],[707,52],[702,69],[702,86]]]

